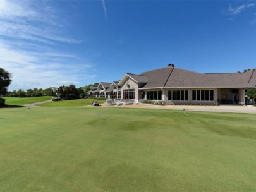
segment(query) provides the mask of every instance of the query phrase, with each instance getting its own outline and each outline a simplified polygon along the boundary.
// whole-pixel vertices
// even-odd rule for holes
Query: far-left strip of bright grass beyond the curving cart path
[[[2,97],[6,99],[6,105],[24,105],[24,104],[32,104],[35,102],[41,102],[45,100],[52,99],[52,96],[42,96],[42,97]]]

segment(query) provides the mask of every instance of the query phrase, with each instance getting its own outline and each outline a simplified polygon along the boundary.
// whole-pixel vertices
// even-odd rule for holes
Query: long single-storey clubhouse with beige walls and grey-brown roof
[[[247,104],[248,88],[256,88],[256,69],[246,73],[197,73],[176,68],[126,73],[119,81],[90,87],[89,97],[106,97],[108,104],[145,100],[164,104]]]

